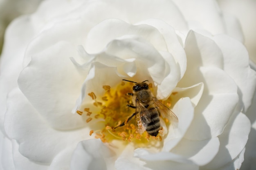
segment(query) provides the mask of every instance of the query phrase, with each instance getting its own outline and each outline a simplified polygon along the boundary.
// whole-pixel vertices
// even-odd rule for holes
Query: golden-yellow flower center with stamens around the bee
[[[108,85],[103,85],[105,93],[102,97],[97,97],[94,92],[88,95],[92,98],[93,107],[97,111],[91,111],[92,108],[84,108],[83,111],[77,111],[79,115],[86,114],[86,122],[103,122],[104,126],[101,129],[94,129],[90,131],[90,135],[95,135],[96,138],[103,142],[111,142],[112,140],[123,140],[126,142],[134,142],[135,144],[145,144],[150,141],[162,141],[162,128],[160,128],[157,136],[150,136],[148,132],[139,133],[136,129],[137,122],[135,117],[132,117],[129,122],[128,118],[135,113],[135,108],[127,105],[135,106],[132,96],[132,86],[134,83],[121,82],[115,88],[110,88]],[[149,84],[149,89],[153,92],[152,84]],[[164,102],[170,106],[170,102]],[[124,126],[119,126],[124,123]],[[168,120],[165,119],[168,124]],[[95,127],[95,126],[94,126]],[[99,126],[98,126],[99,127]]]

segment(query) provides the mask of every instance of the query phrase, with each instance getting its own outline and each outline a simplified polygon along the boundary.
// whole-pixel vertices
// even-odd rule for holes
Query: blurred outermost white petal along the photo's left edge
[[[29,17],[13,20],[5,31],[4,46],[0,57],[0,127],[6,111],[6,98],[9,91],[18,86],[17,79],[22,70],[22,60],[27,44],[31,40]],[[13,48],[15,47],[15,50]]]

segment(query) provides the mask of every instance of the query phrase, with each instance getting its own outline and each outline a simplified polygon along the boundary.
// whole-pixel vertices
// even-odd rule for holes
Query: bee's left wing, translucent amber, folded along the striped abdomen
[[[135,117],[135,126],[138,133],[143,133],[148,124],[150,123],[150,114],[148,113],[148,109],[146,109],[141,103],[136,103],[137,114]]]

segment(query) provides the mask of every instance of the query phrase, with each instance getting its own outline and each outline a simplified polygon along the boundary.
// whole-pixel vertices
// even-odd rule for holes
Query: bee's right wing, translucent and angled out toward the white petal
[[[169,121],[171,121],[171,124],[173,124],[174,126],[177,126],[177,122],[179,120],[178,120],[178,117],[173,113],[173,111],[171,109],[169,109],[168,107],[166,107],[161,102],[159,102],[159,100],[157,100],[157,98],[153,97],[152,99],[155,102],[155,106],[158,109],[158,113],[163,118],[167,118]]]

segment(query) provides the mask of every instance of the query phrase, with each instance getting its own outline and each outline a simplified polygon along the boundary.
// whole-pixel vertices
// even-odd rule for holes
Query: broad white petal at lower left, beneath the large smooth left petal
[[[71,114],[72,115],[72,114]],[[54,130],[31,106],[19,89],[13,90],[7,100],[4,129],[19,143],[19,152],[38,163],[49,164],[67,146],[88,139],[89,129]]]

